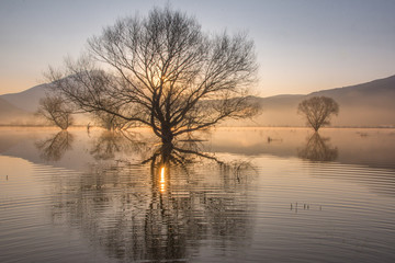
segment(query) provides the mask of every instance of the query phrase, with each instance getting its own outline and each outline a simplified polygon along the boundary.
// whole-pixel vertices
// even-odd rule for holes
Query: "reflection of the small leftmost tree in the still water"
[[[41,151],[40,157],[45,161],[59,161],[67,150],[71,149],[74,136],[67,130],[61,130],[35,145]]]

